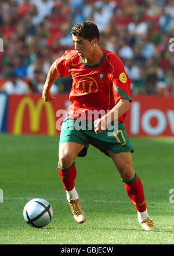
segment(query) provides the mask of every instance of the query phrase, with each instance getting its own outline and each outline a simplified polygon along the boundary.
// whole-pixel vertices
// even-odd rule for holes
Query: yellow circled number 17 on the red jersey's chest
[[[80,85],[82,84],[82,88],[80,87]],[[85,93],[90,93],[92,91],[92,85],[95,85],[95,91],[98,91],[98,84],[96,82],[96,80],[93,77],[82,77],[81,79],[79,79],[78,81],[78,88],[81,88],[83,92]],[[86,88],[88,88],[88,90],[86,90]],[[87,92],[86,92],[87,91]]]

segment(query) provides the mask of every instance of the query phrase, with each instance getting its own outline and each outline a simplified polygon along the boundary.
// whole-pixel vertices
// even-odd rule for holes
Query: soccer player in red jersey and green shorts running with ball
[[[124,127],[126,112],[132,101],[124,64],[115,53],[99,46],[99,30],[91,21],[76,24],[71,33],[75,49],[67,50],[52,64],[42,98],[52,102],[55,97],[50,88],[55,80],[59,75],[72,75],[71,105],[67,109],[68,117],[61,126],[57,169],[74,219],[78,223],[86,220],[75,189],[75,158],[85,156],[88,146],[93,145],[114,161],[142,228],[154,230],[142,182],[132,166],[134,149]],[[98,113],[97,117],[95,113]]]

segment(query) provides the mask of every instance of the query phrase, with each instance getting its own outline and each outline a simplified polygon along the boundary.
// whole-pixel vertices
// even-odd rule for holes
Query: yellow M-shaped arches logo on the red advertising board
[[[30,129],[32,132],[39,131],[41,111],[42,107],[45,107],[48,135],[56,135],[56,117],[52,105],[48,102],[44,102],[42,98],[39,99],[37,103],[34,103],[34,100],[30,97],[24,97],[17,107],[16,114],[14,116],[13,134],[21,134],[22,121],[26,106],[28,106],[29,109]]]

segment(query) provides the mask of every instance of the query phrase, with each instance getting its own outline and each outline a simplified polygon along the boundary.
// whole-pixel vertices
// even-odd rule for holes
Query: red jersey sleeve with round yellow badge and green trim
[[[119,99],[126,99],[132,102],[131,83],[125,72],[124,64],[119,59],[114,65],[113,94],[115,103],[117,103]]]

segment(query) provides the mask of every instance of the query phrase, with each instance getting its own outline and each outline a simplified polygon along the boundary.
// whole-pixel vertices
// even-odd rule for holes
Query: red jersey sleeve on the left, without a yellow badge
[[[61,77],[66,77],[68,74],[70,74],[67,57],[68,53],[66,51],[62,57],[59,57],[56,60],[57,72],[60,74]]]

